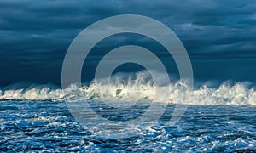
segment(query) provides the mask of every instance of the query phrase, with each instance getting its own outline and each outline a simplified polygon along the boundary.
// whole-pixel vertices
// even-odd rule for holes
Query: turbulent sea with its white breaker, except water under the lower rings
[[[189,81],[155,87],[142,78],[137,76],[128,82],[118,79],[110,86],[92,82],[61,89],[18,83],[1,88],[0,150],[256,151],[256,91],[252,86],[224,82],[212,88],[205,83],[190,92]],[[154,92],[162,88],[168,88],[163,93],[167,96],[155,97]],[[189,99],[189,106],[174,126],[167,126],[170,118],[162,116],[152,127],[135,126],[137,134],[131,138],[108,139],[81,126],[67,107],[78,101],[96,104],[102,98],[113,104],[154,99],[168,103],[171,115],[180,99]],[[140,109],[133,107],[129,113],[135,116]],[[104,112],[112,116],[112,111]],[[114,112],[114,120],[119,121],[125,113]]]

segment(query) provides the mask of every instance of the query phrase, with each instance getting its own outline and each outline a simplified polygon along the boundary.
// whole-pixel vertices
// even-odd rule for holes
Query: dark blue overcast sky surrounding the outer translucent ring
[[[0,84],[60,83],[73,38],[118,14],[146,15],[169,26],[187,49],[196,79],[256,82],[255,10],[253,0],[0,0]]]

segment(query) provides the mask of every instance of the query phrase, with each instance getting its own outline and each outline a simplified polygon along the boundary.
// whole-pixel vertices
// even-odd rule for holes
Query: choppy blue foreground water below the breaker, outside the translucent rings
[[[189,105],[175,126],[163,119],[134,137],[104,139],[80,126],[64,101],[1,100],[0,151],[256,151],[255,109]]]

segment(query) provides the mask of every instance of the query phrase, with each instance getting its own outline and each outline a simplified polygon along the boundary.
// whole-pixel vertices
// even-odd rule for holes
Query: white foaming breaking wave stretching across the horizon
[[[189,99],[189,105],[256,105],[255,88],[250,88],[246,82],[223,82],[218,88],[211,88],[203,83],[189,94],[188,80],[177,80],[170,85],[155,87],[151,76],[145,71],[136,74],[117,74],[112,77],[110,85],[102,79],[91,82],[82,87],[76,84],[68,88],[58,88],[55,85],[30,85],[22,87],[22,83],[15,83],[0,89],[0,99],[19,100],[61,100],[75,101],[83,99],[104,99],[114,101],[137,101],[139,99],[154,99],[163,103],[182,103]],[[156,96],[154,93],[161,88],[166,96]],[[181,100],[182,99],[182,100]]]

